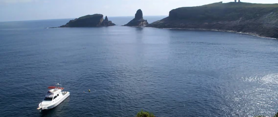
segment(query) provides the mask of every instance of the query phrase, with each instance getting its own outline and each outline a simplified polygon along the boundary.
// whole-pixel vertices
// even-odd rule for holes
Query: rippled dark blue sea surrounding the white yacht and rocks
[[[149,23],[166,16],[145,16]],[[71,19],[0,22],[1,117],[248,117],[278,112],[278,41]],[[70,96],[40,111],[48,86]],[[88,92],[88,90],[91,92]]]

